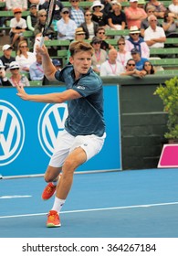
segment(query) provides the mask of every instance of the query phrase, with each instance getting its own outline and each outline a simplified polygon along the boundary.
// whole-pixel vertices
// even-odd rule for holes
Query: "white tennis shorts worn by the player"
[[[102,137],[94,134],[79,135],[75,137],[64,130],[58,135],[57,144],[49,161],[49,165],[53,167],[61,167],[64,164],[68,154],[79,146],[85,151],[88,161],[94,155],[99,154],[105,138],[106,133],[104,133]]]

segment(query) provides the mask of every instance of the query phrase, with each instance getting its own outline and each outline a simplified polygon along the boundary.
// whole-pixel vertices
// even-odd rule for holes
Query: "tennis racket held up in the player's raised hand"
[[[49,0],[48,6],[47,6],[47,18],[45,22],[45,27],[42,32],[42,37],[39,43],[39,47],[41,48],[44,44],[45,36],[47,35],[47,29],[50,27],[54,12],[55,12],[55,5],[56,5],[56,0]]]

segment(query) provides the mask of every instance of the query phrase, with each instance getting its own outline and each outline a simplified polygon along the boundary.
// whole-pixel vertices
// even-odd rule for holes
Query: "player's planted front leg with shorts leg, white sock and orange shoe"
[[[105,134],[103,137],[95,135],[77,136],[74,144],[71,146],[70,154],[66,158],[62,167],[62,176],[57,187],[55,202],[47,218],[47,227],[59,227],[59,212],[64,205],[68,192],[73,183],[74,171],[79,165],[88,161],[94,155],[97,155],[104,144]]]

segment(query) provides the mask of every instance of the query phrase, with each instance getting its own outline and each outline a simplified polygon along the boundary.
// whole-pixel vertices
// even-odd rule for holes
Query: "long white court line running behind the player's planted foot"
[[[125,209],[125,208],[151,208],[151,207],[159,207],[159,206],[170,206],[170,205],[178,205],[178,202],[171,203],[160,203],[160,204],[151,204],[151,205],[138,205],[138,206],[128,206],[128,207],[116,207],[116,208],[88,208],[88,209],[76,209],[76,210],[67,210],[62,211],[60,214],[66,213],[78,213],[78,212],[89,212],[89,211],[101,211],[101,210],[113,210],[113,209]],[[19,217],[32,217],[32,216],[41,216],[47,215],[45,213],[32,213],[32,214],[21,214],[21,215],[10,215],[10,216],[0,216],[0,219],[7,218],[19,218]]]

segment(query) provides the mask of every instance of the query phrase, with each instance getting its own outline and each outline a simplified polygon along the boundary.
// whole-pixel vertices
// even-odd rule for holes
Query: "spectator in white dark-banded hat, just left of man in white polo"
[[[150,57],[150,49],[140,36],[141,31],[138,27],[133,26],[130,28],[130,37],[126,40],[126,50],[131,52],[132,48],[137,48],[143,58]]]

